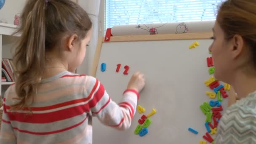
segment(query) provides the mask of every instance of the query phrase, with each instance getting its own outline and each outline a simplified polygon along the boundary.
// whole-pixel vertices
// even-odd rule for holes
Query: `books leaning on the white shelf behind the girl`
[[[2,59],[2,82],[14,82],[15,67],[12,59]]]

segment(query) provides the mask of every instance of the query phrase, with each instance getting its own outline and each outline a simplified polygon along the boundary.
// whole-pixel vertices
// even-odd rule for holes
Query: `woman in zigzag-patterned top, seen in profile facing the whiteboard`
[[[256,0],[227,0],[218,12],[209,50],[215,77],[237,93],[221,117],[215,144],[256,144]]]

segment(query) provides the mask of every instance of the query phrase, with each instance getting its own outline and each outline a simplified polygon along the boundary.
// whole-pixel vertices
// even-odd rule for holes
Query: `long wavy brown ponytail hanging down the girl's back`
[[[21,33],[15,50],[14,63],[17,71],[16,94],[19,102],[13,107],[27,107],[33,101],[36,86],[40,83],[45,61],[45,0],[29,0],[21,15]],[[19,106],[19,107],[18,107]]]

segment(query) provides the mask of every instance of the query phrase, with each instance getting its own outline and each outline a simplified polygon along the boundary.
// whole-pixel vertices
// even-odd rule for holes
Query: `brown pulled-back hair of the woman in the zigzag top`
[[[250,48],[249,63],[256,69],[256,0],[227,0],[219,8],[216,21],[227,40],[241,35]]]

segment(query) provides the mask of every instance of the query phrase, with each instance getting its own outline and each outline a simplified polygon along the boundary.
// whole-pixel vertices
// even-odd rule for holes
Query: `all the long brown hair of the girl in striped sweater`
[[[88,14],[71,0],[28,0],[21,13],[21,34],[13,57],[16,66],[16,94],[13,108],[29,106],[45,68],[45,52],[58,47],[64,35],[86,37],[92,27]]]

